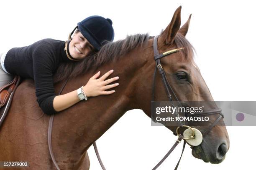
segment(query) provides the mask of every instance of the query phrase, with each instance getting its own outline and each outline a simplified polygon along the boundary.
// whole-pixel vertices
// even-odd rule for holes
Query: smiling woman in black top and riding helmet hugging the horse
[[[60,63],[77,62],[113,39],[112,21],[101,16],[90,16],[77,24],[68,41],[43,39],[26,47],[12,48],[0,54],[0,87],[10,82],[13,75],[32,78],[37,102],[48,115],[71,107],[80,100],[87,100],[90,96],[112,94],[115,90],[105,90],[118,86],[118,83],[108,83],[119,77],[109,79],[108,83],[104,80],[113,70],[100,78],[100,72],[97,72],[86,85],[64,95],[55,95],[53,75]]]

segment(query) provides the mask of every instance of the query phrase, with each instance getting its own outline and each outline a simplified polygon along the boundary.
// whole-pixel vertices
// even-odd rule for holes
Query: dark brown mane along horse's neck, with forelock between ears
[[[77,62],[65,62],[61,63],[54,74],[54,83],[61,80],[66,80],[68,77],[74,78],[88,70],[97,70],[104,63],[114,62],[119,60],[122,56],[133,50],[139,45],[144,45],[149,39],[148,34],[136,34],[127,36],[124,40],[118,40],[115,42],[107,42],[103,45],[98,52],[92,52],[84,59]],[[174,42],[177,47],[185,47],[184,53],[186,59],[191,60],[193,55],[193,47],[189,41],[183,36],[177,33],[174,38]],[[192,52],[192,53],[191,53]],[[153,57],[152,57],[153,58]]]

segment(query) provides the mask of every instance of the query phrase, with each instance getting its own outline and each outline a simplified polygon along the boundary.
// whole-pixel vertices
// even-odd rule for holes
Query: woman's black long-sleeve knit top
[[[14,75],[32,78],[37,102],[44,113],[55,114],[53,75],[61,62],[72,62],[64,51],[65,42],[43,39],[26,47],[10,49],[5,57],[5,69]]]

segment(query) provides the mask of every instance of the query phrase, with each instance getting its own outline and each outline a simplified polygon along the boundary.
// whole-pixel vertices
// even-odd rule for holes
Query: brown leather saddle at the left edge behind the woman
[[[8,113],[13,95],[20,84],[20,76],[15,75],[7,85],[0,87],[0,126]]]

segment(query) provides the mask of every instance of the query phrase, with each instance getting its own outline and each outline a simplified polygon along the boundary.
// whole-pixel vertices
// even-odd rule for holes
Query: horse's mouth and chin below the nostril
[[[225,159],[225,156],[219,160],[217,158],[210,158],[208,155],[206,155],[202,149],[202,147],[199,145],[199,146],[196,146],[192,149],[192,155],[195,157],[195,158],[198,158],[198,159],[201,159],[203,160],[205,163],[212,163],[212,164],[219,164],[221,163],[224,159]]]

